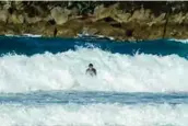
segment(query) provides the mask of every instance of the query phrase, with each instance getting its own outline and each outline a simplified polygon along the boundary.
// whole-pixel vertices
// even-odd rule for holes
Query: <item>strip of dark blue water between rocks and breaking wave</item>
[[[166,56],[176,54],[187,58],[188,44],[175,41],[156,39],[139,43],[114,42],[109,39],[45,38],[0,36],[0,54],[15,53],[32,56],[50,51],[52,54],[75,50],[78,47],[98,47],[110,53],[134,55],[136,53]]]

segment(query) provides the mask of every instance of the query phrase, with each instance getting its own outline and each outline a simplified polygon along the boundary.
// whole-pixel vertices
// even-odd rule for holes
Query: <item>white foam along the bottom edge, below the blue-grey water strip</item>
[[[187,126],[188,105],[0,105],[1,126]]]

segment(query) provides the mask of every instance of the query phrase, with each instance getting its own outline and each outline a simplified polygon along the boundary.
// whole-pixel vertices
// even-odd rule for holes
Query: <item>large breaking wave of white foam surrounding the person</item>
[[[87,65],[97,77],[85,76]],[[122,92],[188,91],[188,61],[177,55],[120,55],[81,48],[52,55],[0,57],[0,92],[85,90]]]

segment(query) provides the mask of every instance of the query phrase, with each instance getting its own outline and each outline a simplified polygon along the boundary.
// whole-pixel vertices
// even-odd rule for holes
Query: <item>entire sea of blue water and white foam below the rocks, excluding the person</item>
[[[0,36],[1,125],[187,126],[187,53],[178,39]]]

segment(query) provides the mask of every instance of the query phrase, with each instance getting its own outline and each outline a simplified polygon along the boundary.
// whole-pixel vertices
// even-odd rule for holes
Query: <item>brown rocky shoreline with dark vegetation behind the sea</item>
[[[188,38],[187,2],[1,1],[0,35],[74,37],[79,33],[120,41]]]

